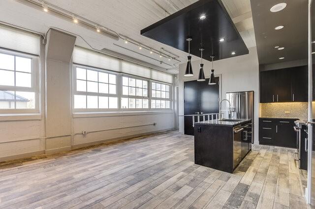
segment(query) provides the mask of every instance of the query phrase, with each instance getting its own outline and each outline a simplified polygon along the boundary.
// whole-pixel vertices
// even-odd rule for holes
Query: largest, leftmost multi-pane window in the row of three
[[[75,66],[74,109],[117,109],[117,76]]]

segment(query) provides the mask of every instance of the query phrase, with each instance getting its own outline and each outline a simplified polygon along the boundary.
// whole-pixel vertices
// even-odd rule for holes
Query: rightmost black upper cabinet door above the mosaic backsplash
[[[308,67],[300,66],[290,69],[291,101],[308,102]]]

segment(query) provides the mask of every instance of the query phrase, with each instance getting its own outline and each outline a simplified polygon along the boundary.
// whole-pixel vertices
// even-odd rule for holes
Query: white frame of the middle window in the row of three
[[[132,95],[123,95],[123,77],[127,77],[127,78],[133,78],[133,79],[138,79],[138,80],[145,80],[147,81],[148,83],[148,88],[147,88],[147,97],[144,97],[144,96],[132,96]],[[122,111],[148,111],[150,110],[151,108],[151,104],[150,104],[150,79],[148,78],[142,78],[142,77],[137,77],[137,76],[132,76],[132,75],[128,75],[128,74],[121,74],[121,90],[120,90],[120,93],[121,93],[121,98],[120,98],[120,101],[122,101],[122,98],[128,98],[128,106],[129,106],[129,98],[130,99],[145,99],[145,100],[148,100],[148,108],[122,108],[122,105],[120,104],[120,108]],[[136,83],[136,86],[137,86],[137,83]],[[137,87],[135,86],[135,89],[137,89]],[[129,91],[129,89],[128,89]],[[136,103],[135,103],[136,104]],[[143,103],[142,103],[143,105]]]

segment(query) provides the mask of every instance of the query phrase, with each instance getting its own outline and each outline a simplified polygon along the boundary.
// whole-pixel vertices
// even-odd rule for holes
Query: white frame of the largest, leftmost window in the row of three
[[[77,91],[77,78],[76,78],[76,68],[82,68],[86,70],[92,70],[92,71],[97,71],[101,73],[107,73],[107,74],[112,74],[116,76],[116,94],[105,94],[105,93],[96,93],[96,92],[82,92],[82,91]],[[113,71],[108,71],[100,68],[94,68],[90,66],[85,66],[85,65],[78,65],[78,64],[73,64],[72,67],[72,106],[73,106],[73,112],[107,112],[107,111],[118,111],[120,109],[120,94],[119,94],[119,88],[118,86],[120,85],[119,82],[119,73],[115,73]],[[96,82],[96,81],[95,81]],[[98,83],[98,82],[97,82]],[[98,88],[98,84],[97,84]],[[100,97],[117,97],[117,108],[74,108],[74,95],[85,95],[85,96],[100,96]],[[87,103],[86,103],[87,104]]]

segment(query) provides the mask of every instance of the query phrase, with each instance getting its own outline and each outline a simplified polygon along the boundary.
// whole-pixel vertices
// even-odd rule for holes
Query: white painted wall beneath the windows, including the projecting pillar
[[[62,36],[60,33],[58,35]],[[58,39],[62,41],[67,38]],[[45,46],[41,45],[40,114],[0,115],[0,161],[58,153],[107,140],[174,129],[175,117],[172,110],[73,114],[70,89],[72,79],[69,78],[71,66],[56,58],[61,53],[56,41],[58,40],[55,40],[55,48],[48,49],[53,51],[50,55],[54,58],[48,60],[44,56]],[[83,135],[82,131],[88,133]]]

